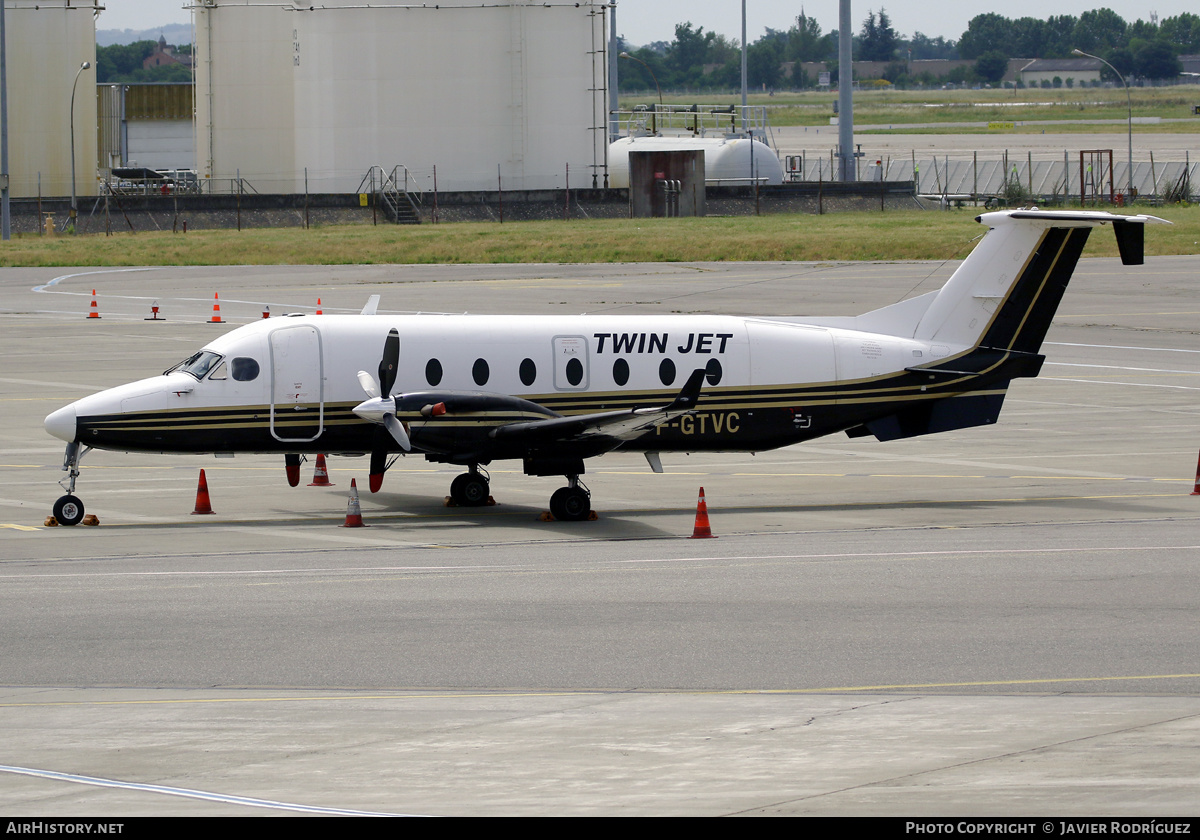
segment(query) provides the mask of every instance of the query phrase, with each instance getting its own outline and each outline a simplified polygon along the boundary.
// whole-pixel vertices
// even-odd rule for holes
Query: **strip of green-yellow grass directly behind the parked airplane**
[[[1175,222],[1146,232],[1147,254],[1200,253],[1200,208],[1145,210]],[[978,210],[826,216],[462,222],[254,230],[22,235],[0,242],[2,266],[348,265],[893,260],[964,256],[983,233]],[[1115,256],[1093,236],[1087,256]]]

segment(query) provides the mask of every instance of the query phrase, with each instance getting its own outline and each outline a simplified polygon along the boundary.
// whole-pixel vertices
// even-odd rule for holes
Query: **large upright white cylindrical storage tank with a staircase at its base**
[[[200,166],[259,192],[602,186],[602,2],[196,8]],[[401,175],[403,176],[403,175]],[[402,185],[403,186],[403,185]]]

